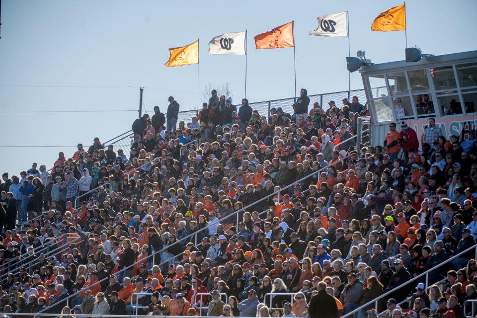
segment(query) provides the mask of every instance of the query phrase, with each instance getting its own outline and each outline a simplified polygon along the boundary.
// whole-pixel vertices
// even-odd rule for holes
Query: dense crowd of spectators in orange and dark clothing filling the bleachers
[[[267,117],[213,90],[178,127],[168,101],[134,122],[127,151],[96,138],[51,170],[2,175],[4,313],[469,314],[473,249],[400,285],[476,244],[475,131],[447,140],[429,118],[419,142],[391,123],[383,145],[357,148],[356,96],[324,109],[302,89],[293,114]]]

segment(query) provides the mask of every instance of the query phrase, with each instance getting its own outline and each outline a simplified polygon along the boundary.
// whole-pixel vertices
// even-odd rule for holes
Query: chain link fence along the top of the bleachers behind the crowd
[[[384,87],[384,90],[386,90],[386,87]],[[379,93],[381,93],[381,91],[379,91]],[[323,108],[323,110],[327,110],[329,108],[328,103],[330,101],[334,101],[337,106],[341,107],[341,105],[343,104],[342,100],[344,98],[351,99],[353,96],[357,96],[359,99],[359,102],[363,105],[365,104],[366,93],[364,89],[344,90],[344,91],[338,91],[333,93],[308,95],[308,97],[310,97],[310,107],[313,107],[313,104],[318,102]],[[254,103],[249,103],[249,105],[253,110],[255,109],[258,110],[258,113],[260,114],[260,116],[265,116],[268,118],[270,116],[271,108],[281,107],[284,112],[293,114],[292,105],[295,103],[295,100],[296,98],[284,98],[284,99],[254,102]],[[240,104],[236,106],[237,106],[237,109],[239,109]],[[187,127],[187,123],[190,123],[192,120],[192,117],[197,115],[198,115],[198,110],[180,111],[179,116],[177,118],[177,125],[182,120],[184,121],[185,126]],[[110,144],[114,146],[115,150],[117,149],[128,150],[133,144],[133,140],[134,140],[134,136],[131,133],[125,137],[120,137],[119,139],[112,141]],[[125,152],[127,153],[127,151]]]

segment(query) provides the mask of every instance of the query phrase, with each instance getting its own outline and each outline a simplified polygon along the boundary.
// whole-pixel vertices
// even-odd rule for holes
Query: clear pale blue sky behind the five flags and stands
[[[293,48],[256,50],[253,36],[295,22],[297,90],[348,89],[348,38],[311,36],[317,16],[349,11],[351,56],[365,50],[374,63],[404,59],[404,31],[373,32],[382,11],[401,4],[362,1],[64,1],[3,0],[0,39],[0,170],[18,174],[32,162],[51,168],[58,152],[71,157],[94,137],[106,141],[130,129],[143,108],[197,108],[197,65],[167,68],[168,48],[199,38],[199,103],[206,86],[229,83],[244,94],[244,56],[210,55],[217,35],[247,29],[247,98],[293,97]],[[477,50],[477,1],[406,2],[408,47],[435,55]],[[351,89],[363,88],[359,72]],[[72,112],[72,111],[85,112]],[[105,110],[107,112],[90,112]],[[10,113],[4,113],[4,112]],[[48,113],[25,113],[49,111]],[[62,111],[62,112],[58,112]],[[3,113],[2,113],[3,112]],[[23,147],[4,147],[23,146]],[[27,147],[24,147],[27,146]],[[42,147],[31,147],[42,146]],[[48,146],[48,147],[43,147]]]

